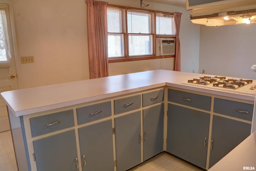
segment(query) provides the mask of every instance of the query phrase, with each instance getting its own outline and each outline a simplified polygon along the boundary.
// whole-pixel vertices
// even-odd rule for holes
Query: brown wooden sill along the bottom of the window
[[[153,60],[153,59],[160,59],[160,58],[175,58],[175,55],[151,56],[151,57],[130,57],[130,58],[115,58],[115,59],[108,58],[108,63],[139,61],[139,60]]]

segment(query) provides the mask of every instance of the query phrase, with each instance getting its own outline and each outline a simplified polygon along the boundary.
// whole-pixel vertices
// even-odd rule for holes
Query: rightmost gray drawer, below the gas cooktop
[[[215,113],[252,121],[253,105],[226,99],[214,98]]]

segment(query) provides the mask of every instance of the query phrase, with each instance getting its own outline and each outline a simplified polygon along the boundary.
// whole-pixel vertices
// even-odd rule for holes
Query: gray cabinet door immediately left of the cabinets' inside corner
[[[163,151],[164,104],[143,110],[143,160]]]

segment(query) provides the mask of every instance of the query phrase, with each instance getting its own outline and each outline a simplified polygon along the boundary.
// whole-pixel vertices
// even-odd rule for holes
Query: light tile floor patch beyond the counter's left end
[[[0,171],[18,171],[11,131],[0,132]]]

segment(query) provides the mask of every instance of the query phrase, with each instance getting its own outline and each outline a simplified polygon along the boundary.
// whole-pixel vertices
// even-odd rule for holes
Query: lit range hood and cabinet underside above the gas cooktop
[[[186,0],[190,20],[206,26],[256,23],[256,0]]]

